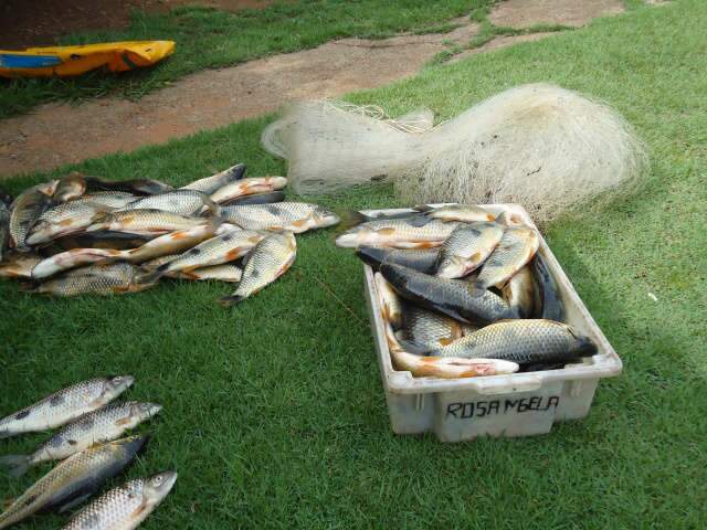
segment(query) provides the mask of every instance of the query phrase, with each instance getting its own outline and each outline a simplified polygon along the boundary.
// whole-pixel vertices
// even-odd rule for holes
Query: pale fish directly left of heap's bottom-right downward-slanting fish
[[[180,254],[145,276],[146,282],[168,273],[189,273],[197,268],[234,262],[251,252],[265,237],[252,230],[230,230]]]

